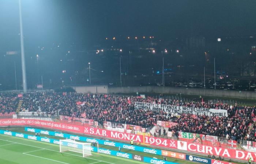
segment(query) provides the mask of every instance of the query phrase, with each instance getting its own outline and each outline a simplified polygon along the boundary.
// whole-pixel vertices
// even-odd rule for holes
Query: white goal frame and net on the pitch
[[[60,152],[65,151],[82,153],[83,157],[91,156],[91,143],[77,142],[71,139],[60,140]]]

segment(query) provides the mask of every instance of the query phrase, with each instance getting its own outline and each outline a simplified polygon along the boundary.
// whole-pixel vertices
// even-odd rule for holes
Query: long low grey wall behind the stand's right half
[[[109,87],[108,88],[109,94],[136,93],[136,92],[256,99],[256,92],[253,92],[253,91],[214,90],[214,89],[202,89],[202,88],[181,88],[181,87],[162,87],[162,86],[135,86],[135,87]]]

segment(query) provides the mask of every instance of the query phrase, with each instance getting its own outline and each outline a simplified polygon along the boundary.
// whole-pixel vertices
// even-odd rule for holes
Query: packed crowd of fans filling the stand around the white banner
[[[109,94],[79,94],[56,92],[33,92],[23,94],[21,111],[46,112],[47,114],[60,114],[64,116],[86,117],[98,121],[127,123],[150,127],[159,121],[177,122],[178,125],[169,128],[176,136],[178,132],[208,134],[212,136],[231,138],[233,140],[256,139],[255,106],[238,106],[227,104],[213,104],[206,102],[182,102],[171,99],[156,99],[153,97],[125,97]],[[17,95],[1,94],[0,112],[16,111]],[[145,111],[135,109],[134,103],[148,102],[155,104],[204,107],[213,109],[226,109],[228,117],[207,117],[182,114],[175,116],[165,112]]]

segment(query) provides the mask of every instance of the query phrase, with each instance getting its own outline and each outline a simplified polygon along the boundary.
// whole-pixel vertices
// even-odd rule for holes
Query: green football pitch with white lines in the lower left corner
[[[0,164],[136,164],[133,161],[92,152],[82,157],[75,152],[60,153],[59,145],[0,134]]]

